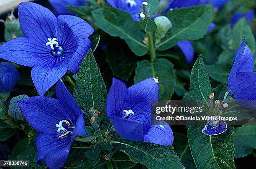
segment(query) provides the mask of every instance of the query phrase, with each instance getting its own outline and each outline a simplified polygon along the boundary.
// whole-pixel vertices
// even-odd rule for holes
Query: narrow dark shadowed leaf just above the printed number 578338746
[[[25,151],[30,143],[30,138],[21,139],[13,148],[12,154],[9,156],[9,160],[17,160],[18,154]]]

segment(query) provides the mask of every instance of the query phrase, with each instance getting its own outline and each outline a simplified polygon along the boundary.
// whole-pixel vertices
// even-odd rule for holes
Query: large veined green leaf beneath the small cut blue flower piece
[[[202,133],[203,126],[190,126],[188,142],[198,169],[236,169],[233,127],[219,135]]]

